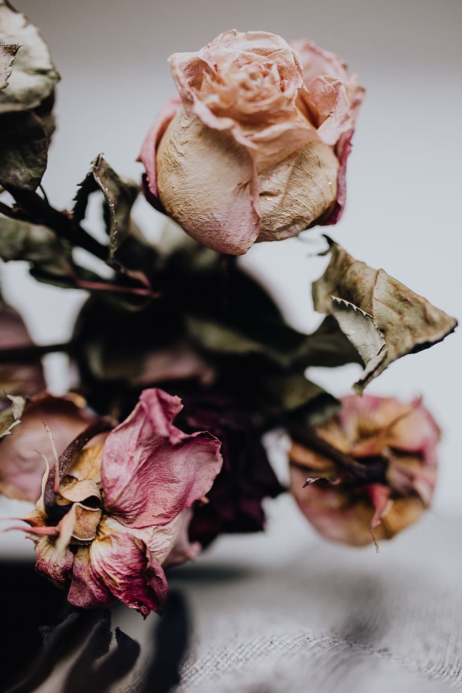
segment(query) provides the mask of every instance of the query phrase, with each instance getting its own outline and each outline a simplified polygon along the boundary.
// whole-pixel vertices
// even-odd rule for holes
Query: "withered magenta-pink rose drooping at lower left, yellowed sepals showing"
[[[46,470],[37,509],[22,519],[36,542],[37,570],[70,581],[71,604],[90,608],[120,599],[143,615],[159,611],[168,590],[161,566],[199,552],[186,528],[190,507],[220,471],[220,441],[174,426],[181,407],[178,397],[144,390],[104,444],[80,452],[87,431],[64,451],[54,493]]]

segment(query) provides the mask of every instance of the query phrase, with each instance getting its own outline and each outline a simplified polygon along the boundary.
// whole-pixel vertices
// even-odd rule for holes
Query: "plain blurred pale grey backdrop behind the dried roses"
[[[141,177],[135,161],[141,143],[175,93],[171,53],[195,51],[237,28],[287,40],[307,37],[341,55],[359,74],[366,98],[348,161],[346,212],[328,233],[356,258],[383,267],[461,319],[460,0],[16,0],[15,6],[39,26],[62,76],[44,177],[48,197],[61,208],[70,207],[98,152],[119,174]],[[134,213],[146,236],[155,238],[165,218],[141,199]],[[321,233],[312,229],[303,240],[256,245],[242,259],[302,331],[321,322],[310,296],[310,282],[326,265],[326,258],[316,257]],[[21,263],[1,272],[5,297],[21,310],[33,339],[67,340],[85,292],[36,283]],[[404,400],[422,394],[440,423],[436,514],[462,511],[460,353],[456,333],[393,364],[368,387],[369,394]],[[65,358],[46,357],[55,394],[69,385]],[[310,378],[341,395],[358,371],[354,365],[311,369]],[[290,512],[288,505],[284,511]],[[312,531],[308,525],[306,531]]]

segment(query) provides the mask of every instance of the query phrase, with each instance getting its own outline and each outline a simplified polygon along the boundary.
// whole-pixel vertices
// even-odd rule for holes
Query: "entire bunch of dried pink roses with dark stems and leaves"
[[[170,65],[178,96],[145,139],[143,192],[188,235],[168,222],[152,244],[130,216],[140,186],[101,155],[73,209],[37,193],[59,76],[37,28],[0,0],[0,184],[14,200],[0,202],[0,257],[89,292],[71,340],[46,347],[1,303],[0,491],[35,506],[21,527],[71,604],[119,599],[143,615],[163,608],[169,565],[220,534],[263,529],[263,499],[287,490],[263,446],[275,428],[292,437],[290,491],[324,536],[362,545],[417,520],[438,426],[420,400],[359,394],[456,326],[328,239],[312,288],[326,317],[305,335],[233,257],[339,219],[364,91],[344,62],[309,41],[231,30]],[[90,195],[105,243],[82,225]],[[78,264],[76,247],[111,279]],[[46,392],[48,351],[78,373],[64,397]],[[364,367],[355,396],[305,377],[350,362]]]

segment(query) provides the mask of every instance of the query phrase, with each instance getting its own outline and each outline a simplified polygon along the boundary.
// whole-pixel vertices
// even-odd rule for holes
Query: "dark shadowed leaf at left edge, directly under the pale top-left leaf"
[[[48,144],[44,123],[37,114],[0,115],[0,184],[8,190],[35,191],[46,169]]]

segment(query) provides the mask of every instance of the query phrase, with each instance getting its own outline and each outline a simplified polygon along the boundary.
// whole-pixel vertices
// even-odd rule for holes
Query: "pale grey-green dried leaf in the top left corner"
[[[0,0],[0,40],[20,44],[8,86],[0,91],[0,113],[36,108],[52,94],[60,76],[37,27],[4,0]]]

